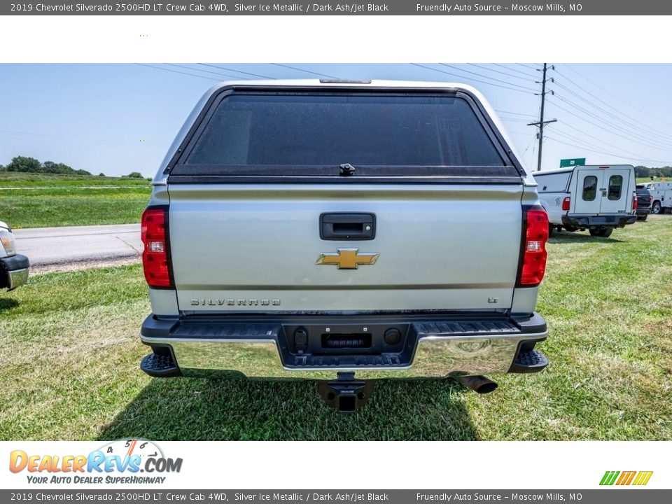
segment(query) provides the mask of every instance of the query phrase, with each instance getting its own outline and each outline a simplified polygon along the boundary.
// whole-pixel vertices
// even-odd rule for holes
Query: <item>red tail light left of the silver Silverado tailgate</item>
[[[150,287],[172,287],[169,269],[167,209],[148,208],[142,214],[142,266]]]

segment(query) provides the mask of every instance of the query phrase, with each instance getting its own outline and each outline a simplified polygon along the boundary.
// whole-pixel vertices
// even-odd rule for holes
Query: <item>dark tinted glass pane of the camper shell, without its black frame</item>
[[[458,97],[234,94],[188,165],[504,166],[470,104]]]

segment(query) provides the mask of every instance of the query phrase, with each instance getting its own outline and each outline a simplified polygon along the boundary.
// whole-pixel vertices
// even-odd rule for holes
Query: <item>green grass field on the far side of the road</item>
[[[140,221],[146,179],[0,172],[0,220],[13,228]]]

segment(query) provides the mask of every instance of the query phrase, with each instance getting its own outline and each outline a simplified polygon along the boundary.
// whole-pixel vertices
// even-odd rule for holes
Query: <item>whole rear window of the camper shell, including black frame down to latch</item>
[[[482,113],[455,94],[235,92],[171,175],[517,176]]]

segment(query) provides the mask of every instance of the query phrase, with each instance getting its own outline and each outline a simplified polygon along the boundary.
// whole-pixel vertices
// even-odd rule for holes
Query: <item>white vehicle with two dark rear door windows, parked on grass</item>
[[[630,165],[575,166],[535,172],[549,231],[589,230],[608,237],[637,220],[635,171]]]

